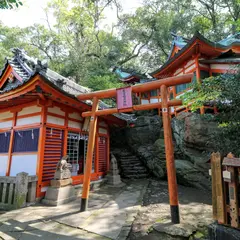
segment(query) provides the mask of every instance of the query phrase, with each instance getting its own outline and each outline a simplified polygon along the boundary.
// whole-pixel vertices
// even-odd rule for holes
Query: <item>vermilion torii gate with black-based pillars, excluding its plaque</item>
[[[172,129],[171,129],[171,117],[169,114],[169,107],[182,105],[181,100],[168,100],[168,91],[167,87],[176,86],[179,84],[190,83],[193,78],[193,74],[185,74],[178,77],[170,77],[166,79],[157,80],[154,82],[134,85],[131,87],[132,93],[148,92],[155,89],[161,89],[161,102],[150,103],[144,105],[135,105],[129,106],[121,109],[111,108],[98,110],[99,99],[103,98],[117,98],[118,89],[109,89],[97,92],[91,92],[87,94],[78,95],[79,100],[92,100],[92,111],[84,112],[83,117],[90,118],[90,127],[89,127],[89,138],[88,138],[88,150],[87,150],[87,159],[86,159],[86,168],[84,172],[83,180],[83,190],[82,190],[82,201],[80,211],[86,211],[88,207],[88,196],[90,188],[90,177],[92,171],[92,158],[95,144],[96,136],[96,126],[97,118],[102,115],[110,115],[120,112],[131,112],[139,110],[149,110],[160,108],[162,109],[162,118],[163,118],[163,129],[164,129],[164,142],[165,142],[165,152],[166,152],[166,165],[167,165],[167,176],[168,176],[168,191],[169,191],[169,200],[170,200],[170,209],[171,209],[171,219],[172,223],[179,223],[179,206],[178,206],[178,191],[177,191],[177,179],[176,179],[176,169],[174,162],[174,149],[172,141]],[[126,92],[122,96],[126,101]],[[119,106],[119,103],[118,103]]]

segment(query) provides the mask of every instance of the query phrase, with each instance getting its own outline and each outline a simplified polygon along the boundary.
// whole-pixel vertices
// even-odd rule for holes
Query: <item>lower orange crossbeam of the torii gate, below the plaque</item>
[[[171,100],[168,101],[168,107],[174,107],[174,106],[181,106],[182,100]],[[143,104],[143,105],[135,105],[132,108],[123,109],[122,111],[119,111],[117,108],[109,108],[109,109],[103,109],[98,110],[95,115],[96,116],[103,116],[103,115],[111,115],[114,113],[119,112],[132,112],[132,111],[142,111],[142,110],[149,110],[149,109],[155,109],[155,108],[162,108],[162,103],[149,103],[149,104]],[[82,114],[83,117],[90,117],[92,112],[84,112]]]

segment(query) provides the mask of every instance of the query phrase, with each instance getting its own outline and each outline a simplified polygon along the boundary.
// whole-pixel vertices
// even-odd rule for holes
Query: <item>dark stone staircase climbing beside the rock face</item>
[[[121,151],[114,152],[118,161],[118,168],[122,178],[127,179],[140,179],[147,178],[148,172],[141,160],[133,155],[127,149],[121,149]]]

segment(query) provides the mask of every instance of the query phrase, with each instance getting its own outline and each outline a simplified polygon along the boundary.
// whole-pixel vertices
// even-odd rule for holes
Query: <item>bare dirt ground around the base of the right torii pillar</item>
[[[211,193],[183,186],[179,186],[178,191],[181,227],[187,231],[186,234],[199,230],[206,231],[206,226],[212,222]],[[156,233],[158,223],[169,221],[167,182],[150,180],[128,240],[150,236],[153,232]],[[150,232],[152,233],[149,234]],[[143,239],[152,238],[144,237]]]

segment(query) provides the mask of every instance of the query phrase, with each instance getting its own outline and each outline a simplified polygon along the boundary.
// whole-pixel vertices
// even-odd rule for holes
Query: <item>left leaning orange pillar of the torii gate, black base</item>
[[[97,110],[98,110],[98,98],[94,97],[93,105],[92,105],[92,113],[90,118],[90,126],[89,126],[86,167],[84,170],[84,178],[83,178],[82,201],[81,201],[81,208],[80,208],[81,212],[86,211],[88,207],[88,195],[89,195],[91,172],[92,172],[92,158],[93,158],[96,128],[97,128],[97,116],[95,115],[95,113]]]

